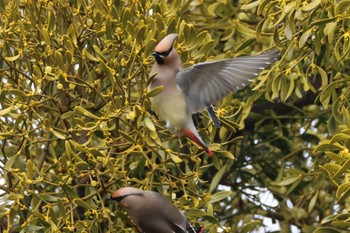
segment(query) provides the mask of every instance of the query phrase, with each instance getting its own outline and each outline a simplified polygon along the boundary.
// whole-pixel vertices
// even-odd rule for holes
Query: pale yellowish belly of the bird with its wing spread
[[[163,90],[151,98],[151,102],[158,117],[166,122],[166,127],[172,133],[182,135],[188,118],[191,117],[186,97],[182,91],[178,87],[176,90]]]

